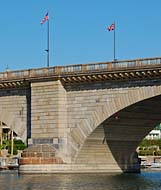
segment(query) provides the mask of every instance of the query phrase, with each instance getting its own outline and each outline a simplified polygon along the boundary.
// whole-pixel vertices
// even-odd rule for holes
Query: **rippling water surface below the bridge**
[[[161,190],[161,171],[120,175],[18,175],[16,171],[0,171],[0,190]]]

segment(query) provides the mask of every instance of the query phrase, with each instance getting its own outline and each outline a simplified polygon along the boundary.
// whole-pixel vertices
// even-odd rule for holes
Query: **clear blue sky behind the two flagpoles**
[[[0,0],[0,71],[161,56],[160,0]]]

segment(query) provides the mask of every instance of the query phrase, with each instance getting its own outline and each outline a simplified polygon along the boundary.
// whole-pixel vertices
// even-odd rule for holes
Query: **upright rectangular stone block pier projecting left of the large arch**
[[[66,91],[60,81],[31,84],[31,144],[53,144],[65,154]]]

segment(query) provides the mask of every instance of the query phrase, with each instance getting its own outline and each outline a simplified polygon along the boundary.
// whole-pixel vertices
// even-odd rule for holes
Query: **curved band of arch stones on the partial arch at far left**
[[[13,112],[9,112],[6,109],[0,109],[0,116],[0,120],[8,127],[12,128],[23,142],[26,142],[27,129],[23,125],[21,119],[17,118]]]

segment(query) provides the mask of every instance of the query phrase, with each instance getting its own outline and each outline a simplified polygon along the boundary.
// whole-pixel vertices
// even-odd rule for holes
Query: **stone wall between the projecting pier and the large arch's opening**
[[[79,157],[86,139],[106,119],[125,107],[160,95],[161,86],[152,83],[152,81],[151,84],[146,81],[117,81],[66,87],[70,129],[68,143],[72,162]]]

